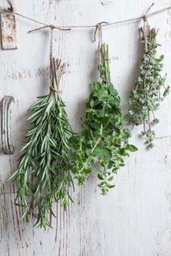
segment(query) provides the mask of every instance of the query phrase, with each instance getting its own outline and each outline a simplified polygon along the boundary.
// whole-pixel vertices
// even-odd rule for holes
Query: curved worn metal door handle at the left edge
[[[4,96],[1,112],[1,141],[4,154],[14,153],[11,136],[11,113],[13,104],[14,98],[12,96]]]

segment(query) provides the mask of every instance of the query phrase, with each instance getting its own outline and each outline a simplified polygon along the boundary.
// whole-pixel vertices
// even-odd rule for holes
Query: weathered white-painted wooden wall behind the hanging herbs
[[[104,4],[102,4],[104,3]],[[151,11],[167,7],[170,0],[156,0]],[[96,24],[125,20],[146,12],[151,0],[14,0],[17,12],[56,25]],[[0,6],[7,6],[0,0]],[[171,11],[149,19],[159,27],[159,54],[164,54],[164,71],[171,83]],[[120,92],[122,108],[128,107],[128,91],[138,76],[143,47],[138,28],[142,21],[104,28],[109,44],[112,81]],[[26,110],[36,96],[48,91],[49,30],[28,34],[38,25],[17,17],[18,49],[0,50],[0,100],[15,99],[12,110],[12,139],[15,153],[0,152],[0,256],[170,256],[171,255],[171,95],[157,112],[157,137],[154,149],[146,150],[133,130],[131,143],[139,151],[125,159],[115,177],[116,187],[107,197],[97,188],[92,176],[83,187],[75,186],[74,203],[66,212],[57,207],[53,230],[42,231],[20,222],[21,212],[14,207],[16,187],[6,184],[14,171],[27,127]],[[93,29],[55,30],[54,57],[67,62],[62,79],[62,97],[75,131],[79,131],[88,99],[88,83],[98,79],[96,43]],[[164,138],[162,138],[164,137]],[[1,145],[0,145],[1,147]],[[56,207],[56,206],[54,206]]]

